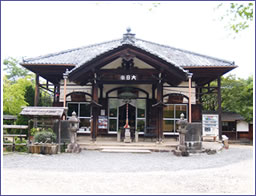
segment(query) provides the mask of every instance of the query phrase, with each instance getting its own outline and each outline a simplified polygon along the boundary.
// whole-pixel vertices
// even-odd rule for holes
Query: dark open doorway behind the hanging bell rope
[[[131,129],[136,126],[136,108],[131,104],[128,104],[128,123]],[[126,104],[119,107],[119,129],[122,129],[126,123]]]

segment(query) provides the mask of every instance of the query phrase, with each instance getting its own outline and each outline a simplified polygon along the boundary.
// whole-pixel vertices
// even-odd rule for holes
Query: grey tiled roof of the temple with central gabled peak
[[[127,36],[128,35],[128,36]],[[226,61],[187,50],[182,50],[166,45],[161,45],[142,39],[137,39],[134,34],[124,34],[124,38],[117,39],[109,42],[84,46],[71,50],[65,50],[58,53],[39,56],[36,58],[25,59],[24,64],[73,64],[77,69],[79,66],[85,64],[104,54],[105,52],[116,49],[122,45],[132,45],[147,51],[159,58],[162,58],[168,63],[179,67],[199,66],[199,67],[212,67],[212,66],[234,66],[234,62]],[[72,71],[73,71],[72,70]]]

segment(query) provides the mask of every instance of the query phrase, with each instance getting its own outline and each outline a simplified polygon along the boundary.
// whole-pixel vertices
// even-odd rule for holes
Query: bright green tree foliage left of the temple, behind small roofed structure
[[[3,77],[3,113],[18,115],[22,106],[34,106],[34,74],[19,67],[18,60],[9,57],[4,60]],[[41,91],[39,94],[39,106],[51,106],[52,97]],[[18,115],[19,124],[26,124],[27,118]]]

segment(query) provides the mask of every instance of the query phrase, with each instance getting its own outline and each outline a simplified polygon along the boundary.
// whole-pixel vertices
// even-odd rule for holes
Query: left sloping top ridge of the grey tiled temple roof
[[[78,47],[78,48],[67,49],[67,50],[63,50],[63,51],[60,51],[60,52],[49,53],[49,54],[42,55],[42,56],[37,56],[37,57],[34,57],[34,58],[23,59],[23,62],[26,63],[26,62],[29,62],[29,61],[49,58],[49,57],[52,57],[52,56],[58,56],[58,55],[61,55],[61,54],[65,54],[65,53],[69,53],[69,52],[73,52],[73,51],[77,51],[77,50],[81,50],[81,49],[85,49],[85,48],[95,47],[95,46],[99,46],[99,45],[102,45],[102,44],[108,44],[108,43],[115,42],[115,41],[118,41],[118,40],[122,40],[122,39],[114,39],[114,40],[105,41],[105,42],[96,43],[96,44],[91,44],[91,45],[82,46],[82,47]]]

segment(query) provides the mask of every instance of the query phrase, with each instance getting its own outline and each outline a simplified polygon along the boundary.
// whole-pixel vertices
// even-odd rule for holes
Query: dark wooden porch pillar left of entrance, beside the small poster
[[[92,85],[92,100],[95,103],[98,103],[98,84],[96,82]],[[98,107],[92,105],[92,122],[91,122],[91,136],[92,141],[96,141],[97,132],[98,132]]]

